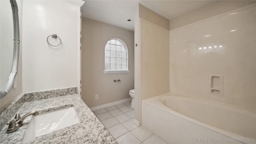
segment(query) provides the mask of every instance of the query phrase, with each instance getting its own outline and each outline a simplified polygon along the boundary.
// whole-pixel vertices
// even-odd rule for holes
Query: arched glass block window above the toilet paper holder
[[[105,46],[105,71],[128,70],[128,52],[122,40],[113,38]]]

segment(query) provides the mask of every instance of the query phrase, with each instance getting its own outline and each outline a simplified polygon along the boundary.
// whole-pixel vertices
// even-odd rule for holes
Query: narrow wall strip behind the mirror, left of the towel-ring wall
[[[17,87],[11,89],[4,98],[0,99],[0,107],[4,108],[7,104],[12,102],[17,96],[22,93],[22,1],[17,1],[19,9],[19,24],[20,24],[20,52],[19,52],[19,62],[18,62],[18,74],[16,75]]]

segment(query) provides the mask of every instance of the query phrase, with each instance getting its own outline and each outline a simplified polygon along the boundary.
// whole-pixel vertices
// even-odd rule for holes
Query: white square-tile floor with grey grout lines
[[[167,144],[143,126],[133,123],[131,102],[108,106],[93,111],[118,144]]]

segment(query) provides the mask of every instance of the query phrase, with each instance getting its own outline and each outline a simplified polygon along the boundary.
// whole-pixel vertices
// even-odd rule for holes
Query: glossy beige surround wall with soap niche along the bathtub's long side
[[[246,8],[170,30],[170,92],[256,112],[256,5]],[[223,96],[209,94],[211,74]]]

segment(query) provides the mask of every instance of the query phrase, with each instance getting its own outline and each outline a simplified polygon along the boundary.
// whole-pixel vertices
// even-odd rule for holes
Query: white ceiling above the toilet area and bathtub
[[[171,20],[215,0],[84,0],[82,16],[107,24],[134,30],[134,9],[143,6]],[[131,21],[127,21],[130,19]]]

